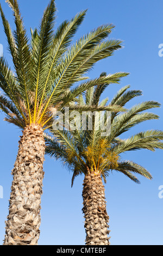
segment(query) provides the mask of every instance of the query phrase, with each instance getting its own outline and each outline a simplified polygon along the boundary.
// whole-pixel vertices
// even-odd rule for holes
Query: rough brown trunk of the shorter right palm
[[[109,216],[101,175],[86,174],[83,184],[86,245],[109,245]]]

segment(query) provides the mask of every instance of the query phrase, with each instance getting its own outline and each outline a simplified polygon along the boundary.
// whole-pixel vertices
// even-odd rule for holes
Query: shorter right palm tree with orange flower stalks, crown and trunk
[[[108,99],[100,102],[102,92],[106,85],[95,86],[87,89],[85,98],[80,96],[80,106],[106,106]],[[140,90],[128,90],[123,87],[108,104],[123,107],[134,97],[140,96]],[[145,101],[131,107],[126,112],[111,112],[109,119],[105,111],[99,119],[93,119],[92,130],[82,129],[81,120],[74,117],[75,129],[51,130],[52,135],[46,134],[46,153],[55,159],[60,159],[73,172],[74,178],[84,174],[83,183],[83,213],[85,217],[86,245],[109,245],[109,216],[106,212],[105,192],[102,178],[112,170],[121,172],[136,183],[140,181],[134,175],[140,174],[147,179],[152,179],[146,168],[133,161],[121,159],[121,153],[136,149],[163,149],[163,132],[148,130],[139,132],[128,139],[121,139],[124,132],[146,120],[158,119],[158,115],[144,112],[147,109],[160,107],[155,101]],[[103,120],[106,125],[110,120],[109,134],[103,134],[103,126],[97,127]],[[89,123],[87,120],[87,127]]]

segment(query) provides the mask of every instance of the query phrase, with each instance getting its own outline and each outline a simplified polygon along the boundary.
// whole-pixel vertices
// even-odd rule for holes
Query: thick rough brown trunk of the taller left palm
[[[19,142],[3,245],[37,245],[40,234],[45,140],[39,125],[27,126]]]

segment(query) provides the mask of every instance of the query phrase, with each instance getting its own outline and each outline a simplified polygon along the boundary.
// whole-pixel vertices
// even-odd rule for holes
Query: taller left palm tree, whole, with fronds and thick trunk
[[[37,245],[44,174],[43,131],[52,125],[53,109],[64,109],[97,82],[118,83],[127,73],[92,80],[86,77],[98,60],[121,48],[120,40],[107,39],[113,25],[100,26],[72,44],[86,11],[62,22],[54,32],[56,8],[51,0],[39,28],[31,29],[29,40],[17,0],[6,2],[14,15],[13,32],[1,5],[0,12],[14,68],[12,71],[7,60],[0,58],[0,109],[6,114],[5,120],[23,133],[12,170],[4,245]],[[80,84],[73,87],[76,83]]]

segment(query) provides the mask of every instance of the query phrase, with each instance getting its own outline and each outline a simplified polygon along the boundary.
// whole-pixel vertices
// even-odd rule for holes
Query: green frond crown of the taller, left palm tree
[[[127,73],[116,73],[95,80],[85,76],[100,59],[109,57],[121,48],[120,40],[105,40],[114,28],[104,25],[81,37],[71,45],[73,35],[84,20],[86,10],[61,23],[54,32],[55,4],[51,0],[40,27],[31,29],[28,39],[16,0],[7,0],[16,29],[12,33],[9,22],[0,11],[14,71],[5,58],[0,59],[0,108],[7,114],[5,120],[19,127],[40,124],[51,125],[52,107],[62,109],[85,89],[96,83],[117,83]],[[75,83],[86,80],[72,87]]]

